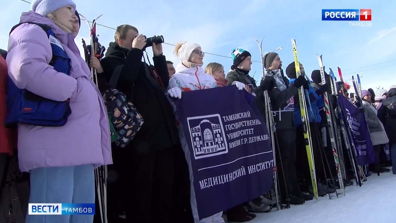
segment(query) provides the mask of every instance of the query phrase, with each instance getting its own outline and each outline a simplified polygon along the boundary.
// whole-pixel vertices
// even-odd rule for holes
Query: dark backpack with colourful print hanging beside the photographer
[[[112,124],[110,129],[113,128],[112,132],[115,133],[112,136],[112,142],[115,142],[120,148],[125,148],[140,130],[144,121],[132,102],[128,102],[125,94],[115,88],[121,68],[122,65],[119,65],[114,70],[108,84],[109,87],[102,97]]]

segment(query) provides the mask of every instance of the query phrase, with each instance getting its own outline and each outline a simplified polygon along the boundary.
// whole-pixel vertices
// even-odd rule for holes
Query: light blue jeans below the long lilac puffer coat
[[[93,165],[30,171],[29,203],[95,203]],[[26,223],[92,223],[93,215],[27,215]]]

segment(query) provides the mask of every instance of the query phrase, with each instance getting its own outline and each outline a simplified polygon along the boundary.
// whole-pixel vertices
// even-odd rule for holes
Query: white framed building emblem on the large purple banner
[[[228,152],[223,123],[219,114],[188,117],[187,122],[196,160]]]

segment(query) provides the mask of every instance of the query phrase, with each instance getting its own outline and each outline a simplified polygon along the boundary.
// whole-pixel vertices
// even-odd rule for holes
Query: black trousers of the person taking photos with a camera
[[[169,223],[175,180],[175,148],[137,142],[126,151],[121,173],[128,222]]]

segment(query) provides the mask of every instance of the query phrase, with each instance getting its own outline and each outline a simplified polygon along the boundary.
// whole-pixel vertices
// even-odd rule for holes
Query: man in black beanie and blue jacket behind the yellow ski
[[[286,75],[290,79],[290,85],[293,86],[295,82],[298,80],[298,78],[303,77],[302,75],[297,78],[296,75],[296,70],[295,70],[295,62],[291,62],[287,68],[286,68]],[[323,162],[321,158],[321,151],[320,151],[320,146],[322,145],[320,143],[320,126],[317,125],[317,123],[320,123],[322,121],[322,118],[320,117],[319,114],[319,108],[317,105],[317,100],[320,99],[320,95],[318,95],[315,92],[315,89],[308,85],[304,87],[304,90],[308,92],[308,98],[309,101],[306,101],[307,104],[307,113],[308,113],[308,120],[309,120],[309,128],[310,128],[310,137],[311,137],[311,148],[313,151],[313,158],[315,161],[315,173],[316,176],[320,176],[323,171]],[[324,91],[323,91],[324,92]],[[323,94],[322,92],[322,94]],[[320,93],[320,92],[318,92]],[[305,140],[304,140],[304,127],[303,127],[303,122],[301,120],[301,110],[300,110],[300,101],[299,101],[299,96],[298,93],[295,95],[296,101],[295,101],[295,106],[294,106],[294,120],[295,120],[295,125],[296,125],[296,146],[297,146],[297,160],[299,161],[297,163],[297,171],[303,175],[303,179],[305,180],[307,186],[308,186],[308,191],[313,194],[312,190],[312,185],[310,182],[311,181],[311,173],[309,170],[309,165],[308,165],[308,157],[307,157],[307,150],[305,146]],[[308,104],[309,103],[309,104]],[[312,108],[312,110],[310,109]],[[318,177],[317,177],[318,178]],[[324,186],[322,183],[316,181],[316,185],[318,188],[318,196],[326,196],[327,193],[332,193],[334,192],[334,189],[332,188],[327,188]]]

